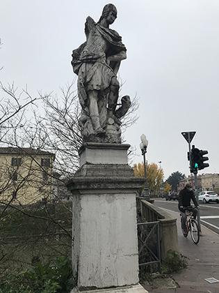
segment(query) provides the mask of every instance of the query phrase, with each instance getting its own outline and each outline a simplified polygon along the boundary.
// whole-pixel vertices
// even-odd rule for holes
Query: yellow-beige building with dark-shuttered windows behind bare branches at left
[[[50,200],[54,153],[30,148],[0,148],[0,204]]]

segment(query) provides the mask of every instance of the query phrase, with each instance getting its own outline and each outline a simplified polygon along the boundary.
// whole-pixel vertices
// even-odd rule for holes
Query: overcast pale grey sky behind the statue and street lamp
[[[57,91],[75,77],[72,50],[85,40],[84,23],[99,20],[102,0],[1,0],[0,80],[28,85],[31,93]],[[140,102],[138,122],[125,138],[139,149],[149,140],[147,158],[165,177],[188,174],[188,144],[181,131],[196,131],[193,143],[209,151],[219,172],[219,1],[117,0],[111,26],[122,36],[127,59],[120,66],[122,95]],[[135,161],[142,160],[136,156]],[[200,172],[202,173],[202,172]]]

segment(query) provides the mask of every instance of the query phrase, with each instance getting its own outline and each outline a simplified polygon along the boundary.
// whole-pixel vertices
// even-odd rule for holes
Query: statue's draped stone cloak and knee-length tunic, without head
[[[106,123],[106,107],[111,79],[116,77],[120,61],[107,62],[107,58],[126,51],[122,38],[113,29],[102,27],[91,17],[86,20],[86,43],[73,51],[72,66],[78,75],[78,95],[83,115],[89,117],[88,91],[98,91],[99,119]],[[103,107],[104,106],[104,107]]]

